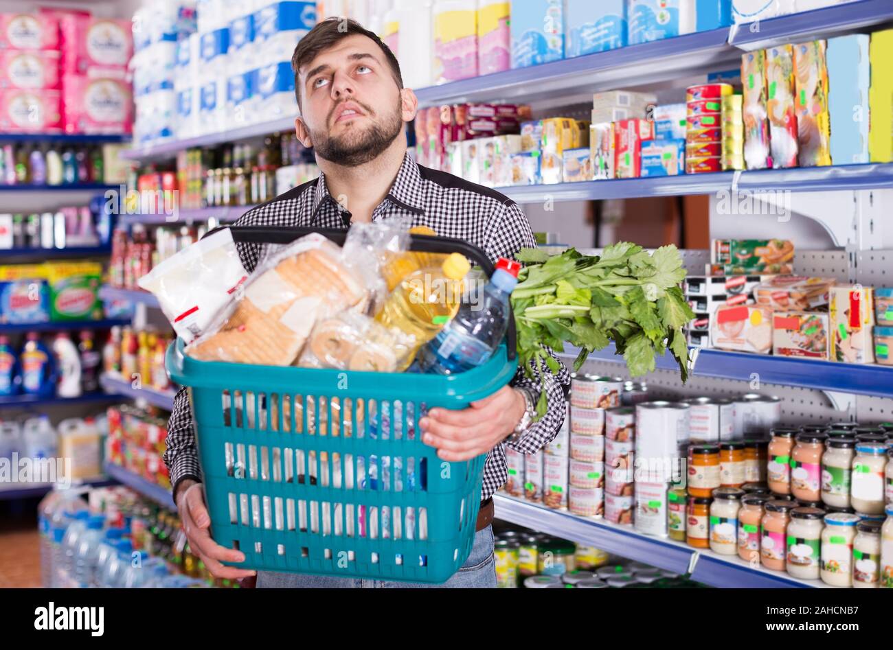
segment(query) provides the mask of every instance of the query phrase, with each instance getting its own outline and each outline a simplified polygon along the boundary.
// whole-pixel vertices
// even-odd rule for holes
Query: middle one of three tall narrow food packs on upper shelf
[[[775,46],[766,50],[766,85],[772,168],[797,167],[794,46]]]

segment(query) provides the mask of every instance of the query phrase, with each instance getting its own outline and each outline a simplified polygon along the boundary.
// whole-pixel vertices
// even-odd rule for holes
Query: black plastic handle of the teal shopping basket
[[[346,230],[332,230],[319,228],[280,228],[271,226],[219,226],[205,234],[205,237],[222,228],[229,228],[233,241],[242,244],[290,244],[300,237],[311,233],[317,233],[335,242],[338,246],[344,246],[347,239]],[[430,237],[429,235],[410,235],[409,249],[420,253],[461,253],[469,258],[487,274],[493,275],[494,266],[487,254],[478,246],[469,244],[462,239],[451,237]],[[505,346],[509,361],[517,354],[517,343],[514,326],[514,318],[509,318],[508,329],[505,331]]]

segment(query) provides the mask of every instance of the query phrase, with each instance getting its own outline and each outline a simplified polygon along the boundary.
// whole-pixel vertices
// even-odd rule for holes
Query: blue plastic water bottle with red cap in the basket
[[[483,291],[482,304],[466,304],[419,351],[419,369],[441,375],[472,370],[496,351],[512,317],[509,297],[521,264],[502,258]]]

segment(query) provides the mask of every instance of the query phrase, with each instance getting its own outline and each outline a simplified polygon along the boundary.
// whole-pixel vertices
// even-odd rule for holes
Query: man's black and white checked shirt
[[[522,247],[536,246],[527,217],[511,199],[488,187],[422,167],[409,155],[388,196],[372,212],[372,221],[407,214],[412,216],[413,225],[428,226],[441,237],[464,239],[479,246],[493,262],[499,257],[513,257]],[[329,194],[325,178],[320,174],[319,179],[295,187],[270,203],[247,212],[236,225],[346,229],[349,222],[349,212]],[[260,245],[238,246],[246,269],[254,270]],[[512,385],[526,388],[536,400],[540,381],[538,371],[534,369],[534,372],[535,379],[530,379],[519,368]],[[557,376],[547,372],[547,414],[520,439],[502,443],[488,454],[481,500],[492,496],[508,478],[505,444],[522,454],[533,454],[552,441],[564,420],[570,385],[571,376],[563,364]],[[171,485],[175,490],[182,479],[201,480],[186,388],[180,388],[174,399],[164,462],[171,471]]]

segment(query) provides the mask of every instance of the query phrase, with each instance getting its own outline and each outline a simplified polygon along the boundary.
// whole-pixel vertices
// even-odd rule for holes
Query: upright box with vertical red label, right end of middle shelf
[[[846,363],[873,363],[874,304],[871,287],[831,287],[830,358]]]

